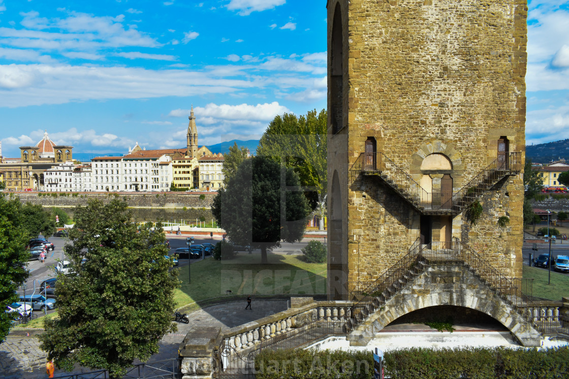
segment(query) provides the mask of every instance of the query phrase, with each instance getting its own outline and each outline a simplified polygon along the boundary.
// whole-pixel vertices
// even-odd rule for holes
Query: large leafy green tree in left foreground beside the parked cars
[[[158,352],[174,331],[178,270],[165,259],[162,226],[137,227],[126,202],[89,200],[75,209],[64,249],[74,275],[57,276],[59,316],[46,320],[41,346],[59,368],[75,363],[121,377]],[[84,262],[82,261],[84,260]]]

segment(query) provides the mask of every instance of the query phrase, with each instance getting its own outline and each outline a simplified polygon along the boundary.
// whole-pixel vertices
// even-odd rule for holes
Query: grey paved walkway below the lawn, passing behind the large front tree
[[[262,300],[251,303],[252,310],[245,310],[246,301],[234,301],[212,305],[196,310],[188,315],[189,324],[176,323],[178,331],[168,334],[160,341],[159,352],[150,357],[149,362],[178,357],[179,344],[191,327],[218,326],[222,330],[246,324],[287,309],[286,300]],[[36,335],[43,330],[13,328],[6,340],[0,344],[0,379],[44,379],[46,378],[46,353],[39,347]],[[30,335],[27,336],[26,333]],[[139,363],[138,361],[135,364]],[[71,373],[93,371],[76,365]],[[56,369],[55,376],[67,374]]]

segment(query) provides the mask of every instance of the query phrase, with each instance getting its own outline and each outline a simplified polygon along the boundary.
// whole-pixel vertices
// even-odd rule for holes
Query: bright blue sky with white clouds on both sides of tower
[[[569,2],[529,2],[527,143],[569,138]],[[0,0],[3,156],[257,139],[326,105],[325,0]]]

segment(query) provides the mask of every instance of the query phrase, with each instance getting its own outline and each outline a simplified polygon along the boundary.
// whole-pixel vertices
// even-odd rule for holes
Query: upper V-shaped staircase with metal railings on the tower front
[[[417,210],[458,214],[508,174],[522,169],[522,153],[500,156],[455,193],[429,193],[382,152],[361,153],[350,169],[351,181],[360,173],[380,176]]]

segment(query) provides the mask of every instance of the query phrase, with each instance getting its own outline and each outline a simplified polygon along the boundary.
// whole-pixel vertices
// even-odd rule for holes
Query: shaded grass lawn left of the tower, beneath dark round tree
[[[182,286],[176,291],[176,303],[190,304],[185,310],[192,310],[216,299],[242,299],[248,294],[325,294],[326,264],[306,263],[303,258],[302,255],[267,253],[269,263],[263,265],[258,253],[240,253],[231,260],[192,261],[190,282],[188,267],[180,268]],[[231,294],[226,293],[228,290]]]

